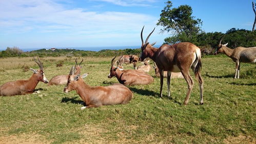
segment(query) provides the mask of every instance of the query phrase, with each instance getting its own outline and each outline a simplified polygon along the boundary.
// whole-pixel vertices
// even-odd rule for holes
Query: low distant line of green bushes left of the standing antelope
[[[0,57],[31,57],[31,56],[67,56],[67,57],[78,57],[78,56],[114,56],[122,54],[134,54],[140,55],[141,49],[124,49],[124,50],[101,50],[101,51],[84,51],[75,49],[55,49],[55,50],[34,50],[30,52],[23,52],[17,47],[7,48],[5,51],[0,51]]]

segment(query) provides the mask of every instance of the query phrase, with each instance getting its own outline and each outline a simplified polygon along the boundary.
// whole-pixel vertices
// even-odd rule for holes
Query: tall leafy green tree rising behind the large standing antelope
[[[195,19],[192,15],[192,8],[188,5],[181,5],[178,8],[171,8],[172,2],[167,1],[166,6],[160,14],[159,22],[164,28],[162,32],[167,31],[173,34],[172,37],[165,39],[167,44],[179,42],[196,43],[196,37],[201,32],[202,21]]]

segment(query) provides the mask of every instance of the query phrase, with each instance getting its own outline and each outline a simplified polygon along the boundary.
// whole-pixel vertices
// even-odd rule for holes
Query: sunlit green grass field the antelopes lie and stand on
[[[41,58],[48,80],[68,74],[74,59]],[[56,67],[60,60],[64,66]],[[89,73],[86,83],[118,83],[107,78],[110,61],[111,57],[84,57],[81,74]],[[0,97],[0,143],[255,143],[256,66],[242,63],[241,78],[233,79],[235,64],[230,58],[204,57],[202,63],[204,105],[199,105],[194,75],[187,106],[182,105],[184,79],[171,80],[170,98],[166,79],[160,98],[160,78],[154,78],[151,85],[129,87],[134,95],[129,104],[83,111],[79,95],[63,93],[64,86],[38,83],[41,93]],[[28,79],[32,71],[23,72],[23,65],[38,69],[31,57],[0,59],[0,85]]]

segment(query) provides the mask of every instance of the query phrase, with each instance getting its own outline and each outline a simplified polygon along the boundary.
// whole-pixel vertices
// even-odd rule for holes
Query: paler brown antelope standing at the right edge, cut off
[[[228,43],[225,45],[221,44],[222,40],[223,40],[223,36],[221,37],[220,44],[218,48],[216,48],[214,54],[225,53],[228,57],[230,57],[235,62],[234,78],[239,78],[241,62],[256,63],[256,47],[250,47],[250,48],[237,47],[234,49],[230,49],[227,47]]]

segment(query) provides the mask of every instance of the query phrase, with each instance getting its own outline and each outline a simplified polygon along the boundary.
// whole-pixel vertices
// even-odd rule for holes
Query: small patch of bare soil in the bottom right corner
[[[254,144],[256,143],[256,140],[251,136],[239,135],[237,137],[229,136],[225,138],[223,142],[226,144]]]

